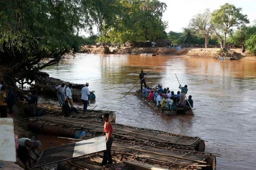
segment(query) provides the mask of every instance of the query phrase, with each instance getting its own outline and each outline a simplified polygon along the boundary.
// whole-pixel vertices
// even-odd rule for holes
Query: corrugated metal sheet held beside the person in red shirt
[[[35,167],[61,162],[84,155],[106,150],[105,136],[83,140],[68,145],[46,149],[42,152]]]

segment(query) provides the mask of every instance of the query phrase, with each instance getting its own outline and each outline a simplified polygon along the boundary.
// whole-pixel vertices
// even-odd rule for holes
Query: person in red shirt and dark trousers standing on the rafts
[[[107,150],[103,152],[103,159],[101,166],[105,166],[107,164],[113,164],[112,156],[111,156],[111,146],[113,143],[113,128],[111,123],[109,122],[109,114],[105,114],[102,116],[103,121],[105,121],[104,124],[104,132],[106,133],[106,146]]]

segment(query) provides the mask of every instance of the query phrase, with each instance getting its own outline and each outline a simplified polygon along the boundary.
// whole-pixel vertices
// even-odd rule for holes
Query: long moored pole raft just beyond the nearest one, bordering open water
[[[87,137],[103,135],[103,121],[83,120],[81,118],[45,115],[30,118],[28,126],[32,130],[74,138],[77,130],[84,131]],[[199,137],[167,133],[162,131],[134,128],[123,124],[113,123],[115,139],[129,139],[158,147],[168,146],[175,149],[204,151],[205,143]],[[89,135],[90,134],[90,135]]]

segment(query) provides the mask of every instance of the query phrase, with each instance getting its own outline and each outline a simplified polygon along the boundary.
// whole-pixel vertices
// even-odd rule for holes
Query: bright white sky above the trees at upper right
[[[242,14],[247,15],[250,24],[256,20],[256,0],[159,0],[167,5],[163,13],[163,21],[168,21],[166,32],[182,32],[182,28],[188,27],[189,21],[194,15],[203,13],[206,8],[218,10],[225,3],[242,8]]]

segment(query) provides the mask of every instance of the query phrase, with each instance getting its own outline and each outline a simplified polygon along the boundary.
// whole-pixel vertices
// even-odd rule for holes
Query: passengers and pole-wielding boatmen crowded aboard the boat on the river
[[[140,84],[141,84],[141,92],[145,98],[148,100],[152,100],[156,103],[156,106],[161,107],[163,109],[172,109],[172,108],[193,108],[193,99],[192,96],[189,95],[188,99],[186,98],[186,94],[188,92],[188,86],[184,87],[179,86],[181,89],[177,91],[177,94],[174,94],[174,91],[170,91],[169,87],[163,88],[161,84],[158,84],[154,88],[150,88],[146,84],[145,75],[147,75],[143,70],[139,74]],[[144,84],[144,87],[142,85]]]

